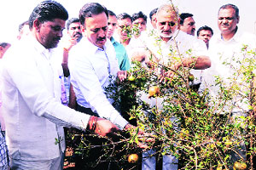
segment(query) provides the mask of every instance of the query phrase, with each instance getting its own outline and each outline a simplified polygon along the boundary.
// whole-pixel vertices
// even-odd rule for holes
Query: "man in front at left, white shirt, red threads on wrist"
[[[29,18],[31,35],[21,38],[3,64],[3,116],[12,169],[63,167],[63,126],[106,135],[108,120],[61,105],[61,65],[55,47],[62,37],[67,10],[60,3],[39,3]]]

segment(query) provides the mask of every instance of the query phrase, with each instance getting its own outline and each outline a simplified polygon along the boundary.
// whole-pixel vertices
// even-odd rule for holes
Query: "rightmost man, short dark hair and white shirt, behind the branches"
[[[207,88],[210,89],[210,93],[213,96],[217,95],[219,90],[218,86],[212,86],[215,80],[213,77],[220,76],[228,84],[230,83],[229,77],[233,77],[234,74],[234,69],[229,65],[224,65],[224,62],[234,65],[234,62],[244,58],[241,51],[242,48],[245,46],[247,46],[247,50],[256,48],[255,35],[241,31],[237,26],[239,20],[239,9],[235,5],[226,4],[219,8],[218,28],[220,33],[212,36],[209,43],[212,67],[206,70],[205,77]],[[240,104],[237,108],[234,108],[234,111],[247,112],[248,107],[247,105]]]

